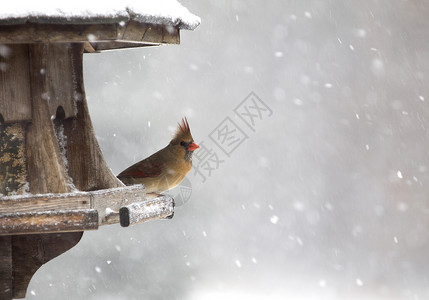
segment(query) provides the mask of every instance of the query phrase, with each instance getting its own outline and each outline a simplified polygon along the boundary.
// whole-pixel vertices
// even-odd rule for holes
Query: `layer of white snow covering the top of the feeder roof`
[[[14,0],[4,1],[0,25],[31,23],[98,24],[136,20],[194,30],[201,19],[176,0]]]

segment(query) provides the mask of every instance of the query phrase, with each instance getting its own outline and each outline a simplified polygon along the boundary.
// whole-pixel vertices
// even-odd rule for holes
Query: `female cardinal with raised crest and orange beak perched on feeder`
[[[198,146],[186,118],[171,142],[148,158],[122,171],[118,178],[126,185],[143,183],[147,193],[159,194],[174,188],[192,168],[192,153]]]

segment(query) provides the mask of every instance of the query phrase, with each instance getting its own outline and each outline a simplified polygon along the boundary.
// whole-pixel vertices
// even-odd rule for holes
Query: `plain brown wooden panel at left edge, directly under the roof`
[[[0,45],[0,116],[4,123],[31,121],[28,45]]]

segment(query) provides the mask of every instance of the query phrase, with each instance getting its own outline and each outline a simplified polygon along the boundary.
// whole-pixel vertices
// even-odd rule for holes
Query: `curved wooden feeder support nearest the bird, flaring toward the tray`
[[[83,44],[72,45],[73,82],[76,98],[76,118],[63,121],[67,137],[68,172],[81,191],[124,186],[104,160],[94,134],[85,98],[82,71]]]

